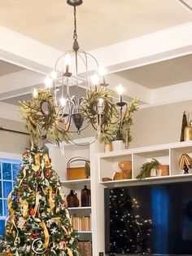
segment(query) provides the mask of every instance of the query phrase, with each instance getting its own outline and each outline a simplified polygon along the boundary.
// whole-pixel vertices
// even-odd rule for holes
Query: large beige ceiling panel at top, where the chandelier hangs
[[[66,0],[0,0],[0,24],[61,51],[72,47],[72,7]],[[86,51],[192,21],[178,0],[84,0],[77,7]]]

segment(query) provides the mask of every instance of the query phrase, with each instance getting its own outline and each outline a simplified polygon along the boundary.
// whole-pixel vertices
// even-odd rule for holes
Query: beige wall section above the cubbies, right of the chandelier
[[[129,148],[179,142],[183,111],[192,111],[192,100],[139,109],[133,117]]]

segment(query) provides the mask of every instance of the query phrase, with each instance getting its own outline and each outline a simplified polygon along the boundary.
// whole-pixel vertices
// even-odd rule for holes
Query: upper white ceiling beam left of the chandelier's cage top
[[[0,59],[40,73],[50,73],[63,52],[0,26]]]

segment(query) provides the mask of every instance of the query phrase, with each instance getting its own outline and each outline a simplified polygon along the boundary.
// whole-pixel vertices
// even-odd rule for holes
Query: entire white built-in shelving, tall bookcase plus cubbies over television
[[[71,189],[75,190],[80,201],[79,207],[69,208],[70,214],[76,216],[91,216],[91,230],[79,231],[79,237],[84,241],[92,241],[93,256],[104,252],[104,188],[139,185],[143,183],[166,183],[177,180],[192,179],[190,174],[183,174],[179,167],[179,159],[182,153],[192,157],[192,141],[182,143],[168,143],[144,148],[129,148],[116,152],[103,152],[103,145],[93,142],[93,138],[77,139],[74,144],[64,146],[64,155],[56,146],[50,146],[50,158],[63,183],[63,192],[67,196]],[[66,170],[68,160],[72,157],[87,157],[90,160],[90,178],[67,180]],[[168,176],[158,176],[138,181],[136,176],[140,167],[146,161],[156,158],[162,165],[169,166]],[[113,178],[115,162],[132,161],[132,179],[111,180],[103,182],[103,177]],[[75,163],[76,166],[76,163]],[[81,189],[87,185],[91,189],[91,206],[81,207]]]

